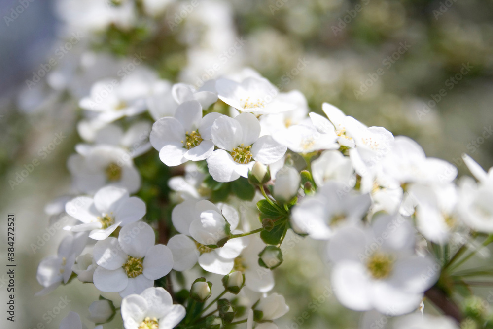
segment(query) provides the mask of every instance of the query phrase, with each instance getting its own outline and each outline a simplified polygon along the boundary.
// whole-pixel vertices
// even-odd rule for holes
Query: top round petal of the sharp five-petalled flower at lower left
[[[125,225],[120,230],[118,242],[122,250],[132,257],[142,258],[154,246],[156,236],[147,223],[138,221]]]

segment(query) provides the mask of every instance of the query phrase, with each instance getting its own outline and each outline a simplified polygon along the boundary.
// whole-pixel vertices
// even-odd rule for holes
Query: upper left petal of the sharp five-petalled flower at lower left
[[[116,270],[127,261],[128,255],[121,250],[117,238],[107,238],[94,245],[93,257],[96,264],[107,270]]]

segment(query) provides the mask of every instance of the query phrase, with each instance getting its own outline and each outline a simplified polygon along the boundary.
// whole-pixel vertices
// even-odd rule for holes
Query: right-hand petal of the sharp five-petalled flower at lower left
[[[147,251],[142,262],[146,278],[157,280],[173,269],[173,254],[165,245],[155,245]]]

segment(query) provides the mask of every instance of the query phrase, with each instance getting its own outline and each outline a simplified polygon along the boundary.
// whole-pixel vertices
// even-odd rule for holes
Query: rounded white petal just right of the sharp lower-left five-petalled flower
[[[191,269],[199,259],[199,251],[195,242],[184,234],[178,234],[168,241],[168,248],[173,254],[173,269],[187,271]]]

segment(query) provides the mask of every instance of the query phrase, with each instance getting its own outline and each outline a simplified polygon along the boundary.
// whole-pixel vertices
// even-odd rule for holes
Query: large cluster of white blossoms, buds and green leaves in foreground
[[[135,24],[131,1],[113,2],[94,30]],[[140,10],[164,10],[157,2]],[[118,292],[89,307],[96,328],[119,314],[126,329],[276,329],[289,311],[273,292],[288,234],[320,244],[335,296],[366,312],[363,328],[375,316],[396,317],[395,328],[458,328],[447,307],[454,319],[410,313],[425,295],[441,307],[474,285],[465,277],[493,273],[460,270],[493,242],[493,169],[469,156],[476,180],[457,179],[412,139],[328,103],[310,109],[301,92],[251,69],[200,87],[143,65],[113,81],[80,95],[73,195],[58,207],[73,223],[37,272],[38,295],[75,278]],[[81,327],[73,312],[60,325]]]

